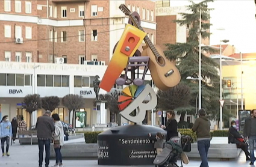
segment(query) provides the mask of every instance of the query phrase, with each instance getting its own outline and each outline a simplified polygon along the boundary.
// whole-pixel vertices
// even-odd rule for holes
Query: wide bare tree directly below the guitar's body
[[[186,108],[190,103],[190,87],[180,83],[176,85],[175,87],[170,88],[167,91],[161,91],[159,90],[157,92],[157,99],[158,109],[168,110],[168,109],[179,109],[179,108]],[[181,109],[181,117],[180,121],[184,121],[186,112]]]

